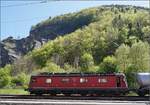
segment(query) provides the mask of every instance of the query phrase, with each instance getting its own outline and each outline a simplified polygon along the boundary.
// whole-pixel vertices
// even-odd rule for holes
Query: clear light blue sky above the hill
[[[42,1],[42,2],[41,2]],[[15,39],[27,37],[32,25],[61,14],[77,12],[88,7],[101,5],[134,5],[149,8],[148,0],[125,0],[125,1],[54,1],[47,0],[28,0],[28,1],[1,1],[0,11],[0,39],[3,40],[9,36]]]

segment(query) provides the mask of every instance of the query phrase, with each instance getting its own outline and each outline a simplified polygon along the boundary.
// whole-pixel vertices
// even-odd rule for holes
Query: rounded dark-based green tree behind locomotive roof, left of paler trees
[[[114,56],[107,56],[100,64],[99,72],[102,73],[115,73],[117,71],[116,58]]]

